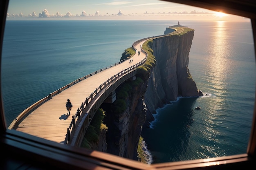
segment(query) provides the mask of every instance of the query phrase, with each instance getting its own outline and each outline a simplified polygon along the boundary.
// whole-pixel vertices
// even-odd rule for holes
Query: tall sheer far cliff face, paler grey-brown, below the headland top
[[[153,40],[156,66],[150,73],[145,93],[147,122],[153,121],[155,110],[178,96],[196,97],[202,95],[189,73],[189,51],[194,30],[183,35],[169,35]]]

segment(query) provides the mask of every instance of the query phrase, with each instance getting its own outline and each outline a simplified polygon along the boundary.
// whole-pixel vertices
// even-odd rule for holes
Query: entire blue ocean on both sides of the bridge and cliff
[[[7,21],[1,86],[7,126],[23,110],[70,82],[120,60],[141,38],[178,21]],[[246,153],[255,98],[249,21],[180,21],[195,29],[189,70],[203,97],[158,108],[141,136],[149,163]],[[200,110],[195,110],[200,106]]]

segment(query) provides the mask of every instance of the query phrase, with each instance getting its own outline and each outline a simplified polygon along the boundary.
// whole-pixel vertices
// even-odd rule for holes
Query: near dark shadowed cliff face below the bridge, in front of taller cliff
[[[117,100],[113,104],[102,105],[103,110],[106,110],[106,117],[103,121],[108,127],[106,133],[108,153],[128,159],[138,159],[137,147],[141,126],[146,117],[144,103],[146,81],[147,79],[145,81],[140,79],[140,81],[124,82],[116,90]],[[125,110],[122,110],[123,108]]]

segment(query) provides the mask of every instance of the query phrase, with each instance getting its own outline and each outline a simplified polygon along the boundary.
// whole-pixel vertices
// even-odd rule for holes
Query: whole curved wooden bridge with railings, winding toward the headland
[[[179,29],[171,34],[182,31]],[[135,76],[137,66],[146,62],[147,54],[141,49],[142,44],[146,40],[168,35],[144,38],[134,42],[132,47],[138,50],[130,58],[132,62],[120,61],[67,84],[20,113],[9,129],[62,144],[80,146],[99,106],[121,83]],[[67,99],[70,99],[73,104],[71,115],[67,115],[65,107]]]

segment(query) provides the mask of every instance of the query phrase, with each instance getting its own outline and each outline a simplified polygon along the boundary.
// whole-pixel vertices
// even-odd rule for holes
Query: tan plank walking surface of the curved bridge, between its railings
[[[142,46],[145,41],[146,40],[137,44],[135,48],[140,49],[140,45]],[[144,57],[144,53],[138,55],[137,52],[132,56],[132,63],[129,63],[129,60],[127,60],[74,84],[36,108],[36,110],[20,122],[16,130],[58,143],[64,143],[72,115],[76,113],[77,108],[81,106],[86,97],[89,97],[100,84],[113,75],[139,63]],[[67,115],[65,107],[67,99],[70,99],[73,104],[70,116]]]

